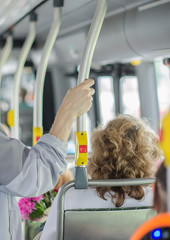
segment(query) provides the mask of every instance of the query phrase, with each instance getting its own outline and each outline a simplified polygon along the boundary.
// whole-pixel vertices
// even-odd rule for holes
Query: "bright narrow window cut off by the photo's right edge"
[[[157,80],[159,115],[160,120],[162,120],[163,116],[167,113],[170,107],[169,69],[163,64],[162,60],[156,60],[154,64]]]

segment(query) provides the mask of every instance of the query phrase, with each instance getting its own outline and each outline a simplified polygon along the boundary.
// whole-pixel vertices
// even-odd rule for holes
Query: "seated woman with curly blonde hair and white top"
[[[143,120],[129,115],[118,116],[92,135],[92,156],[88,165],[92,179],[153,177],[161,155],[157,141],[158,136]],[[65,195],[65,210],[152,205],[151,186],[69,189]],[[41,240],[56,240],[56,220],[57,197]]]

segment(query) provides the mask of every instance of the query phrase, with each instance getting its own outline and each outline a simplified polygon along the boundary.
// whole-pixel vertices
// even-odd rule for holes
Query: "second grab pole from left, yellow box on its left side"
[[[34,42],[36,36],[36,21],[37,21],[37,14],[31,13],[30,15],[30,29],[28,36],[24,42],[24,45],[21,50],[17,71],[14,77],[14,101],[11,104],[11,110],[8,113],[8,124],[11,127],[11,135],[19,139],[19,89],[20,89],[20,82],[22,77],[22,72],[24,68],[25,61],[31,49],[31,46]]]

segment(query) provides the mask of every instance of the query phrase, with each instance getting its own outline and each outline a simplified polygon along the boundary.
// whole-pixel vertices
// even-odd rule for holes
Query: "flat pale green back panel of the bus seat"
[[[67,210],[64,240],[128,240],[156,215],[151,208]]]

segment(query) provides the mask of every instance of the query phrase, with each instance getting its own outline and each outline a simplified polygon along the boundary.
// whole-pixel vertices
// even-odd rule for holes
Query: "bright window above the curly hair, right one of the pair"
[[[122,113],[140,116],[140,100],[138,79],[135,76],[125,76],[120,79],[122,96]]]

